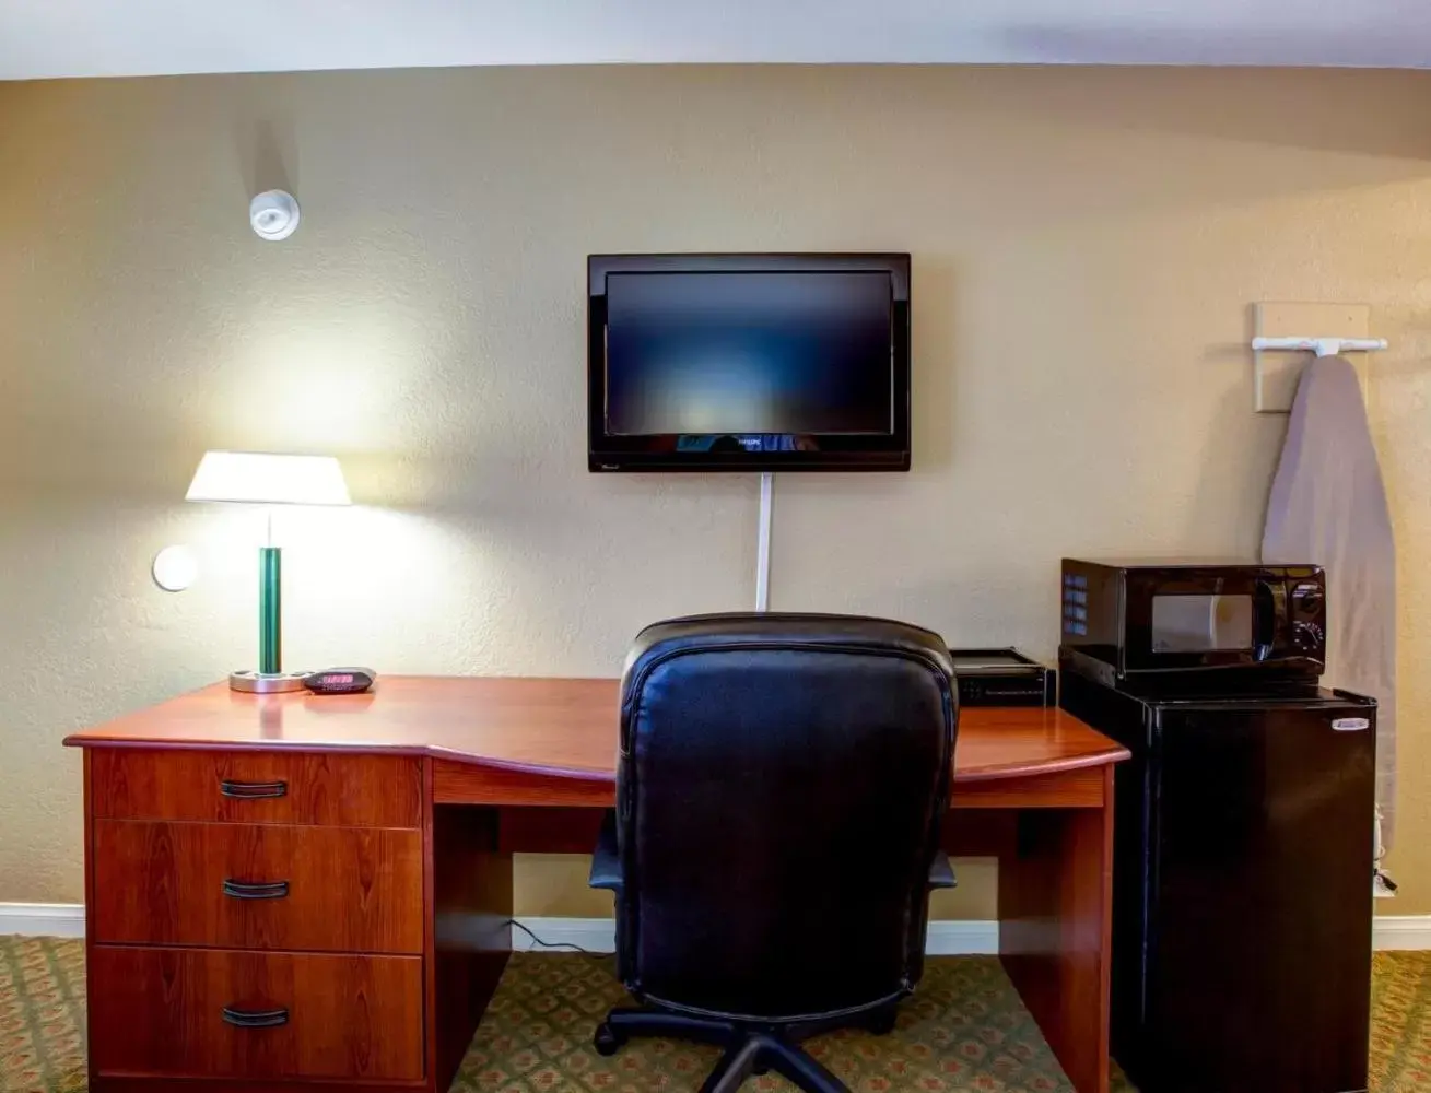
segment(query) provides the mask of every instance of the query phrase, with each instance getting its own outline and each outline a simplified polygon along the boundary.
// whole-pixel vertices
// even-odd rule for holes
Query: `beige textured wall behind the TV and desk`
[[[748,478],[591,476],[584,258],[914,255],[914,472],[786,476],[773,599],[1049,655],[1062,554],[1255,548],[1248,306],[1364,300],[1401,544],[1398,913],[1431,913],[1431,74],[604,69],[0,86],[0,900],[77,900],[66,731],[253,658],[207,446],[346,458],[290,664],[612,674],[751,598]],[[288,185],[303,225],[249,232]],[[159,546],[200,584],[166,595]],[[992,913],[990,868],[944,914]],[[524,913],[594,913],[524,861]],[[962,900],[962,903],[960,903]]]

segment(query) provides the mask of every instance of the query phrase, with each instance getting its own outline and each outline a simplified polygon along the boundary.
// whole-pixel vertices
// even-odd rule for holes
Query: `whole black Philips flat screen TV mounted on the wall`
[[[909,255],[592,255],[591,471],[909,471]]]

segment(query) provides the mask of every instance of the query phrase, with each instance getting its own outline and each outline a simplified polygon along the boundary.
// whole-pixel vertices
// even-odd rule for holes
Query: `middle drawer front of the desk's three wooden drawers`
[[[93,837],[96,941],[422,951],[421,831],[96,820]]]

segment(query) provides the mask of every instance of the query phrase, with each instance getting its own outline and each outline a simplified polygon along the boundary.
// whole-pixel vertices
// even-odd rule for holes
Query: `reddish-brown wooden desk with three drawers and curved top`
[[[514,851],[590,850],[615,680],[223,684],[77,732],[94,1093],[444,1093],[511,953]],[[946,846],[997,854],[1005,967],[1108,1089],[1113,764],[1059,710],[966,710]]]

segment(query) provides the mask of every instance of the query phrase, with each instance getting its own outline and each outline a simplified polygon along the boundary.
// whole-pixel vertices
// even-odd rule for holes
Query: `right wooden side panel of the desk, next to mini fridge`
[[[1108,1093],[1113,771],[1103,807],[1026,810],[999,863],[999,954],[1079,1093]]]

